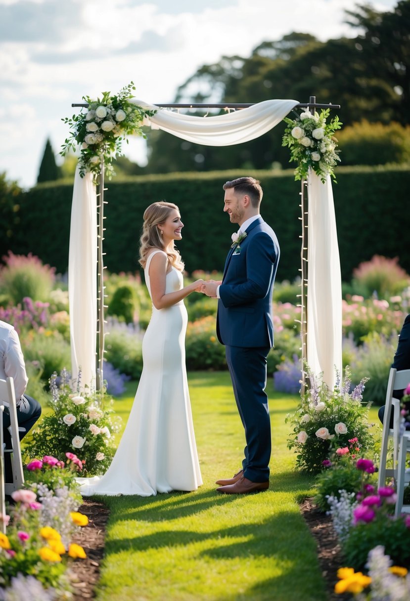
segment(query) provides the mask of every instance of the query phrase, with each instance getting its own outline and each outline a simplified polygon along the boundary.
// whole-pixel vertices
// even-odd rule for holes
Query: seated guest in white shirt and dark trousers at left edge
[[[13,326],[0,321],[0,379],[5,380],[8,377],[12,377],[14,381],[17,422],[19,424],[19,438],[21,440],[40,417],[41,406],[34,398],[25,394],[28,377],[19,336]],[[12,448],[11,435],[8,430],[9,426],[10,412],[4,403],[3,441],[5,443],[5,450]],[[13,481],[10,453],[4,454],[4,481]]]

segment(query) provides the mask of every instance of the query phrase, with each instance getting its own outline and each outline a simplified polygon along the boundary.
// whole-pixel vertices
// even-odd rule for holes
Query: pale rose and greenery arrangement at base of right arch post
[[[331,459],[333,447],[349,448],[349,440],[360,441],[360,454],[372,447],[367,416],[370,403],[362,403],[363,378],[350,392],[350,369],[346,366],[344,380],[337,373],[334,389],[323,382],[322,375],[314,376],[309,367],[306,372],[310,389],[301,395],[295,412],[286,416],[293,427],[288,448],[295,449],[296,468],[304,472],[319,473]]]

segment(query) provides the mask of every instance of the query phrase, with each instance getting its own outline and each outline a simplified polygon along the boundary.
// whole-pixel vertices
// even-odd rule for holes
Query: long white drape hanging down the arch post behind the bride
[[[97,195],[90,173],[76,168],[71,209],[69,305],[72,377],[96,383],[97,343]]]

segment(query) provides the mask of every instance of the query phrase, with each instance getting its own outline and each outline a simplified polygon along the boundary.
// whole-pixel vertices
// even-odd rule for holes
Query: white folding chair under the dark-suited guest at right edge
[[[390,369],[387,383],[384,421],[382,430],[382,444],[380,450],[378,487],[385,486],[386,478],[397,478],[397,461],[399,459],[399,431],[400,431],[400,401],[393,398],[394,390],[407,388],[410,382],[410,370],[397,371]],[[393,409],[393,428],[390,428],[391,411]],[[393,443],[392,467],[387,468],[388,448]]]

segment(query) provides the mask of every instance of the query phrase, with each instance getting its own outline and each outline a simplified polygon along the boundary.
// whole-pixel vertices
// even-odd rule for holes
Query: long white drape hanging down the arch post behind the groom
[[[308,175],[307,362],[332,389],[341,372],[341,274],[330,175]]]

